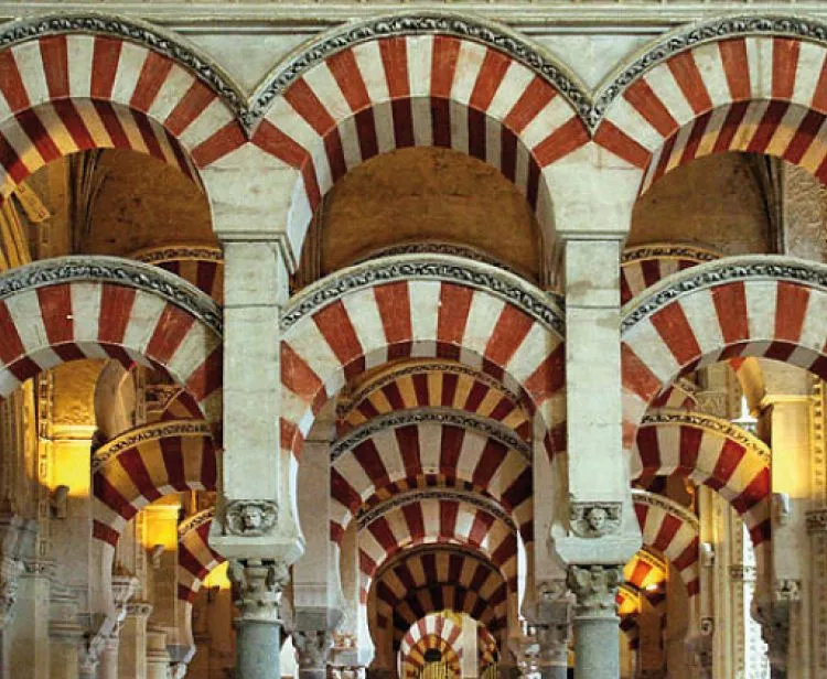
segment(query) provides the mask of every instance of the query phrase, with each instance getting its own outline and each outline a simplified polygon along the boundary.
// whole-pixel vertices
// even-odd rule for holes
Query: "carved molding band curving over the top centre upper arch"
[[[299,47],[259,85],[250,98],[249,109],[243,112],[245,127],[253,129],[267,115],[272,101],[290,85],[313,66],[343,50],[382,37],[433,34],[471,40],[507,54],[550,83],[583,120],[589,119],[591,99],[584,86],[539,45],[529,44],[506,26],[482,19],[439,10],[416,13],[408,10],[337,26],[321,35],[309,47]]]

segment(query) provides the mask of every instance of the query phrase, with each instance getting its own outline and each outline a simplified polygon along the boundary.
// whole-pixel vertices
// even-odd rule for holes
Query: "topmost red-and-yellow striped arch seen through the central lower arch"
[[[447,362],[394,368],[372,380],[339,410],[339,432],[347,433],[380,414],[414,408],[465,410],[502,422],[525,441],[531,440],[531,418],[517,395],[483,373]]]

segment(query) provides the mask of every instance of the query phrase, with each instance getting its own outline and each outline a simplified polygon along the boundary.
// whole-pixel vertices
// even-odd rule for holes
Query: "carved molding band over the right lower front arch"
[[[678,298],[735,281],[773,280],[803,283],[827,292],[827,266],[773,255],[727,257],[667,276],[621,310],[621,336]]]

